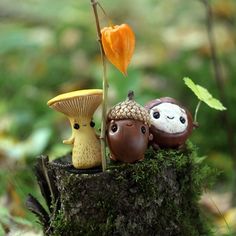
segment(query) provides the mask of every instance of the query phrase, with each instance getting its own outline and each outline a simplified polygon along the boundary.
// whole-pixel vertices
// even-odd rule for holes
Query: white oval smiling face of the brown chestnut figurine
[[[163,102],[154,106],[150,117],[153,126],[169,134],[182,133],[188,127],[186,111],[173,103]]]

